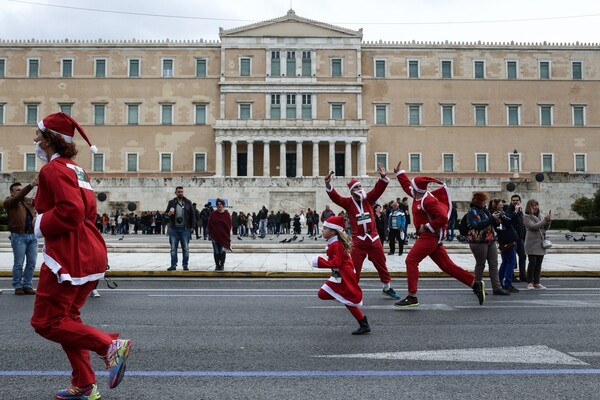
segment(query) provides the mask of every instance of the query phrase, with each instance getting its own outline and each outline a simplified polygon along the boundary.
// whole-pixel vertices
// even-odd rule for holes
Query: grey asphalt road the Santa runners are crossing
[[[316,297],[322,279],[118,283],[83,310],[134,341],[116,389],[93,357],[103,399],[600,398],[600,279],[545,279],[546,291],[484,306],[454,280],[424,279],[421,306],[404,311],[362,280],[365,336]],[[69,384],[60,347],[29,325],[33,300],[0,296],[0,399],[52,399]]]

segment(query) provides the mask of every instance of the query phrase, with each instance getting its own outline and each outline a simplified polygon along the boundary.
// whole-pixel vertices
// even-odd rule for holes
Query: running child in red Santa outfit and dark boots
[[[354,271],[350,252],[350,239],[344,233],[344,217],[329,217],[323,223],[323,238],[327,240],[327,257],[315,257],[312,266],[330,268],[331,277],[325,281],[318,296],[321,300],[337,300],[346,306],[358,321],[359,328],[353,335],[371,332],[367,317],[360,310],[362,306],[362,290]]]

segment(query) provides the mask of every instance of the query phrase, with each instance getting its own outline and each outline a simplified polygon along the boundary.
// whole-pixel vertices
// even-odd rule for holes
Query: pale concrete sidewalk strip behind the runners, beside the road
[[[5,236],[5,237],[3,237]],[[558,235],[557,235],[558,236]],[[107,235],[109,276],[182,276],[182,277],[321,277],[329,271],[311,267],[313,257],[325,254],[325,241],[308,240],[302,243],[279,243],[279,239],[291,238],[290,235],[274,236],[251,240],[233,238],[233,253],[227,254],[225,271],[214,271],[214,260],[210,241],[192,240],[190,242],[190,271],[181,268],[181,250],[178,253],[179,265],[176,271],[167,271],[170,265],[168,238],[164,235],[142,236],[127,235],[123,238]],[[298,239],[298,241],[300,238]],[[600,240],[598,240],[600,241]],[[38,253],[36,272],[43,262]],[[388,268],[393,277],[406,276],[405,258],[410,244],[405,246],[403,256],[388,255]],[[446,245],[450,257],[459,265],[472,271],[474,258],[468,245],[451,242]],[[385,245],[388,252],[388,245]],[[578,243],[556,244],[544,258],[542,274],[544,276],[595,276],[600,277],[600,245],[590,240]],[[0,233],[0,277],[12,275],[13,256],[8,234]],[[487,268],[486,268],[487,271]],[[420,266],[421,276],[446,276],[429,258]],[[366,260],[363,277],[376,277],[373,264]]]

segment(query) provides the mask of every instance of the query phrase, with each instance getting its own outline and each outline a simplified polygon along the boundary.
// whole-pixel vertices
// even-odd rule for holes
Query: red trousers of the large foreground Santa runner
[[[31,326],[40,336],[62,346],[71,363],[74,386],[96,382],[90,351],[104,356],[110,342],[119,336],[85,325],[81,320],[79,310],[95,285],[96,281],[77,286],[58,283],[46,264],[40,270]]]

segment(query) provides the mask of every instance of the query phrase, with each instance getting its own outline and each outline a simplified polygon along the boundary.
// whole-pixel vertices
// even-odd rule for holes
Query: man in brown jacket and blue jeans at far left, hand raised
[[[37,261],[37,238],[33,232],[36,213],[33,200],[25,196],[37,185],[38,178],[25,187],[15,182],[10,185],[10,197],[4,200],[4,209],[8,214],[10,245],[13,249],[13,287],[16,295],[35,295],[32,281]]]

